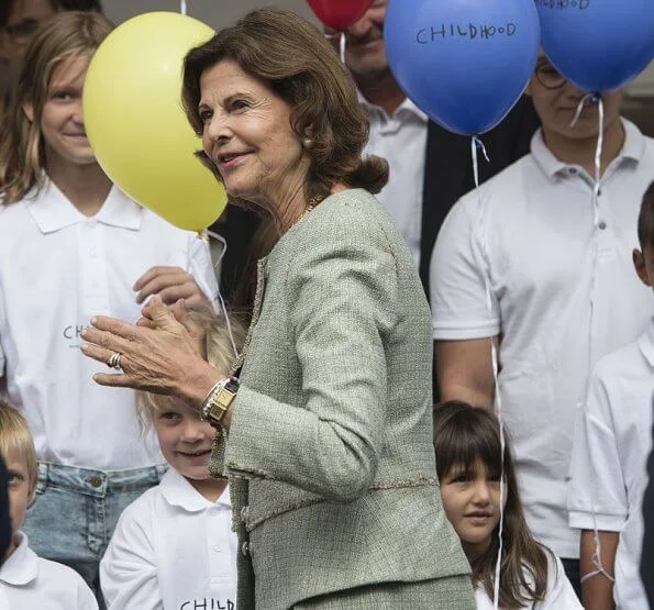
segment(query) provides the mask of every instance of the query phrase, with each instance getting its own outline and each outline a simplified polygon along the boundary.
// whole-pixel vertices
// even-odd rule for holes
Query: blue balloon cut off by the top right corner
[[[654,0],[535,0],[543,51],[583,91],[619,89],[654,53]]]

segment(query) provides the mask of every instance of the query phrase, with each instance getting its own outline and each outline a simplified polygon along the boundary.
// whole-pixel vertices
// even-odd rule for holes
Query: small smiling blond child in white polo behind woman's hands
[[[243,326],[191,310],[185,325],[200,337],[206,358],[229,370]],[[153,426],[170,465],[162,483],[125,509],[100,564],[108,608],[236,607],[237,539],[226,479],[209,475],[217,435],[182,400],[142,392],[138,411]]]

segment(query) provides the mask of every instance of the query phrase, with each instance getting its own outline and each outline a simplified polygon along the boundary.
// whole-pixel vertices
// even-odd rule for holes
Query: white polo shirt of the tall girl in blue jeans
[[[115,187],[93,218],[52,182],[35,199],[0,206],[0,376],[38,459],[101,470],[163,462],[154,435],[144,442],[134,392],[96,384],[92,375],[109,369],[79,350],[93,315],[140,318],[132,286],[155,265],[190,270],[213,300],[207,244]]]

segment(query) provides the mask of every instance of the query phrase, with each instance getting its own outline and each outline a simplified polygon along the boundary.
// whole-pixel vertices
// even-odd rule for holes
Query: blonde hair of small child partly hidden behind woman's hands
[[[245,341],[245,326],[234,315],[230,315],[228,325],[226,315],[218,315],[204,307],[190,308],[187,311],[188,321],[206,335],[204,358],[229,373],[236,359],[234,347],[240,351]],[[165,408],[165,396],[153,392],[136,392],[136,412],[144,430],[149,429],[156,413]]]

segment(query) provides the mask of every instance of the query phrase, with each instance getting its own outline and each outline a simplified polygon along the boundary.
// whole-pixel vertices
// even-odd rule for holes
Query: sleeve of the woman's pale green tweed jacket
[[[347,501],[369,488],[383,450],[397,262],[384,229],[355,206],[324,220],[319,234],[291,240],[278,322],[295,337],[301,403],[244,384],[225,466]]]

